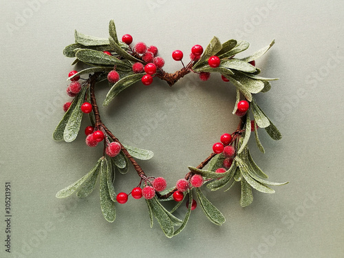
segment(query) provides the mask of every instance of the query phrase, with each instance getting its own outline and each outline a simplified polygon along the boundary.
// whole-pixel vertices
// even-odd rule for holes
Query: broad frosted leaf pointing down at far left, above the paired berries
[[[81,91],[78,94],[80,95],[80,97],[78,98],[78,103],[76,103],[76,107],[70,115],[67,125],[65,125],[65,131],[63,131],[63,140],[65,140],[65,142],[72,142],[76,139],[76,136],[78,136],[81,120],[83,118],[83,111],[81,111],[80,107],[84,103],[84,96],[86,90],[87,87],[81,88]]]

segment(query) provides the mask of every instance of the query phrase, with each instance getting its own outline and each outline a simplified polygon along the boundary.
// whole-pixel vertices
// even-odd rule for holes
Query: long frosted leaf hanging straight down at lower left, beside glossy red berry
[[[109,194],[106,167],[105,160],[103,159],[102,164],[100,164],[100,208],[105,219],[108,222],[114,222],[116,219],[116,207]]]

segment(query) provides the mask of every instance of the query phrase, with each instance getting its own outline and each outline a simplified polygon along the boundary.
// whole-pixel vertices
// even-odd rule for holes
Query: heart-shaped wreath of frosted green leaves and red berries
[[[271,88],[270,80],[277,80],[277,78],[259,76],[261,70],[255,67],[255,60],[266,53],[275,41],[255,54],[245,58],[235,58],[236,54],[248,49],[249,43],[230,39],[221,44],[214,36],[205,50],[201,45],[192,47],[191,61],[187,65],[182,61],[183,53],[175,50],[172,57],[175,61],[181,61],[183,67],[173,74],[162,69],[164,59],[157,56],[157,47],[153,45],[147,47],[145,43],[139,42],[132,48],[133,38],[129,34],[122,36],[122,41],[119,41],[112,20],[109,23],[109,39],[100,39],[75,31],[75,41],[76,43],[65,47],[63,54],[76,58],[72,65],[84,63],[87,68],[80,72],[69,73],[68,80],[71,83],[67,87],[67,95],[73,100],[63,105],[65,115],[56,127],[53,138],[72,142],[80,130],[83,114],[89,114],[91,125],[85,129],[86,144],[89,147],[96,147],[103,142],[103,155],[89,173],[59,191],[56,197],[68,197],[76,190],[78,197],[87,197],[94,190],[100,175],[100,207],[108,222],[114,222],[116,218],[116,202],[125,204],[129,195],[135,199],[144,197],[151,227],[155,217],[166,237],[173,237],[184,229],[191,211],[196,208],[197,202],[193,198],[195,195],[211,222],[217,225],[225,222],[222,213],[202,193],[201,186],[204,184],[211,191],[217,191],[224,186],[227,186],[225,191],[228,191],[235,182],[240,182],[240,205],[244,207],[253,201],[252,188],[263,193],[275,193],[269,186],[288,183],[266,180],[268,175],[253,161],[247,145],[251,132],[254,132],[259,150],[265,153],[258,138],[258,128],[264,128],[274,140],[281,139],[281,133],[252,96],[259,92],[268,92]],[[153,152],[122,144],[101,120],[95,89],[98,83],[108,81],[111,88],[103,103],[108,105],[122,90],[140,80],[144,85],[150,85],[153,77],[156,77],[172,86],[191,72],[199,74],[201,80],[208,80],[211,73],[219,73],[222,80],[233,83],[237,92],[233,114],[239,116],[240,121],[233,133],[224,133],[220,137],[220,142],[213,144],[211,155],[196,167],[188,166],[189,172],[184,178],[178,180],[171,189],[166,190],[164,178],[147,175],[136,161],[149,160],[153,157]],[[88,74],[88,78],[80,78],[84,74]],[[240,100],[241,98],[244,99]],[[252,120],[250,113],[253,115]],[[130,164],[138,173],[138,185],[129,194],[116,194],[115,175],[118,172],[127,173]],[[186,215],[184,219],[179,219],[173,213],[185,198],[187,199]],[[162,201],[175,202],[175,206],[168,211],[162,205]]]

